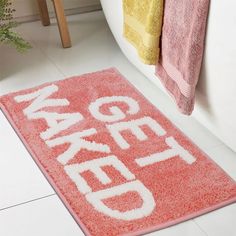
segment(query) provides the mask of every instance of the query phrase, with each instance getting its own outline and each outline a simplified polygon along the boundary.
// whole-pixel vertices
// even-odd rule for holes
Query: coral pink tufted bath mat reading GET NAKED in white
[[[140,235],[236,201],[234,180],[116,69],[0,104],[86,235]]]

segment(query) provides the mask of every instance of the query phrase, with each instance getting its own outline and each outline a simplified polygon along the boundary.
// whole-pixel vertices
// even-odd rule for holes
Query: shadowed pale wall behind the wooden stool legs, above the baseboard
[[[15,18],[19,20],[38,19],[38,5],[36,0],[12,0],[13,7],[16,9]],[[63,0],[67,14],[96,10],[100,6],[99,0]],[[47,0],[50,12],[53,12],[52,1]]]

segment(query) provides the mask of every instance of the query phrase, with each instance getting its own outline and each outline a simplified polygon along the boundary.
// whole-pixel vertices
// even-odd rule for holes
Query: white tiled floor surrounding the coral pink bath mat
[[[56,24],[19,27],[33,45],[26,54],[0,48],[0,95],[44,82],[117,67],[147,99],[236,180],[236,154],[172,101],[123,56],[101,12],[68,18],[73,47],[62,49]],[[83,235],[0,112],[0,235]],[[154,232],[155,236],[235,236],[236,204]]]

